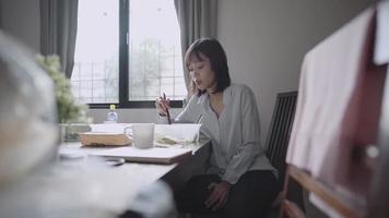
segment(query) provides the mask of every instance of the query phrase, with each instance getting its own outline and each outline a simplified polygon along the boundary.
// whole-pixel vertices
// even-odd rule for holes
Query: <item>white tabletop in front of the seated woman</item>
[[[210,144],[209,142],[209,140],[200,140],[194,144],[176,145],[176,147],[182,146],[192,149],[192,159],[198,161],[197,156],[203,156],[202,153],[198,155],[198,152],[203,150],[201,148],[209,147],[205,146]],[[172,165],[125,162],[113,167],[104,165],[103,158],[96,159],[96,157],[89,156],[89,154],[105,149],[111,149],[111,147],[82,147],[80,142],[64,143],[59,148],[59,164],[70,169],[86,169],[86,171],[92,172],[90,173],[92,174],[91,178],[95,177],[95,180],[104,183],[106,206],[115,210],[126,208],[126,205],[133,199],[140,189],[175,171],[177,167],[180,169],[185,165],[193,165],[184,160]]]

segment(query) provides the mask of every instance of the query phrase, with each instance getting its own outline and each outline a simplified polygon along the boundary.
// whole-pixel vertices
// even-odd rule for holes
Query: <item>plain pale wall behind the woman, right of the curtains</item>
[[[233,82],[249,85],[260,110],[262,141],[280,92],[296,90],[310,48],[373,0],[220,0],[219,39]]]

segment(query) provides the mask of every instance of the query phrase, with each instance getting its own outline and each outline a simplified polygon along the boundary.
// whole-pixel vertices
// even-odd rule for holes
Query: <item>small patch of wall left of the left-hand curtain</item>
[[[39,0],[1,0],[1,29],[39,51]]]

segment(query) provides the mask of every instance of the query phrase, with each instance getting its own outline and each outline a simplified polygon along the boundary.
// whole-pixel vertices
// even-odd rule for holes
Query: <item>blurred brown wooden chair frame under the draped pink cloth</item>
[[[362,150],[365,155],[359,158],[358,165],[370,168],[369,193],[367,204],[362,205],[354,198],[337,193],[326,184],[302,169],[287,166],[284,183],[282,211],[280,217],[304,218],[304,210],[291,199],[286,193],[290,192],[290,183],[297,182],[309,193],[315,193],[331,209],[346,218],[388,218],[389,217],[389,76],[386,76],[385,92],[382,95],[381,116],[379,119],[378,142],[374,147],[379,150],[379,156],[374,158]]]

